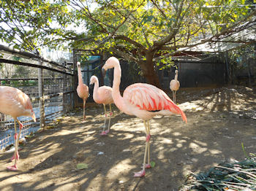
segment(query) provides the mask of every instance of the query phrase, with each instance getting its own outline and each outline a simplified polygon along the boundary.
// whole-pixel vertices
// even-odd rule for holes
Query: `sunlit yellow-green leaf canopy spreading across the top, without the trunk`
[[[0,39],[27,50],[44,44],[62,47],[62,42],[69,41],[70,46],[99,50],[108,50],[118,44],[127,52],[138,49],[138,44],[150,49],[154,42],[170,34],[174,34],[176,40],[171,36],[162,46],[174,42],[184,45],[187,40],[207,31],[222,31],[249,12],[248,7],[241,6],[244,0],[96,1],[94,10],[91,1],[0,2],[1,23],[12,26],[0,28]],[[207,23],[201,26],[205,20]],[[75,30],[83,25],[86,30]],[[127,38],[118,37],[121,35]],[[19,37],[22,44],[18,43]],[[127,41],[130,39],[138,44]],[[161,48],[158,49],[157,52]]]

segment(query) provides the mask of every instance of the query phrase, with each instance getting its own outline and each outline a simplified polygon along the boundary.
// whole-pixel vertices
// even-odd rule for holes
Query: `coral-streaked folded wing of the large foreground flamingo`
[[[170,110],[173,101],[166,93],[154,85],[137,83],[130,85],[124,90],[124,99],[139,109],[147,111]]]

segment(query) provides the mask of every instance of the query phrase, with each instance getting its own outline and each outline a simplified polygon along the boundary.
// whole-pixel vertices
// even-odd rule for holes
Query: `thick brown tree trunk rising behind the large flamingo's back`
[[[157,71],[154,69],[153,53],[146,55],[146,61],[141,61],[140,69],[143,71],[143,77],[146,78],[148,84],[162,88],[159,82]]]

